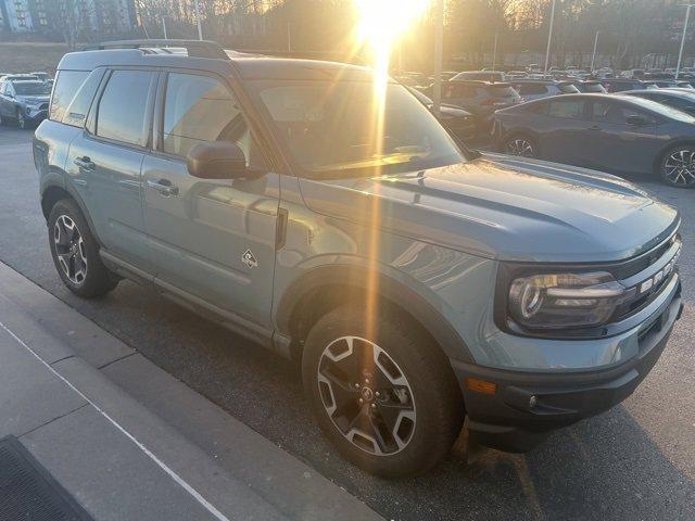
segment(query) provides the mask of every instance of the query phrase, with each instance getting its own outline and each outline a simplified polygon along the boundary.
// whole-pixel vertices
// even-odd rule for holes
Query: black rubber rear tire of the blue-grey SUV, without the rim
[[[85,244],[87,275],[80,284],[76,284],[67,278],[58,260],[58,252],[55,251],[55,243],[53,242],[53,227],[61,215],[68,216],[75,223]],[[63,199],[53,205],[48,218],[48,231],[49,247],[51,250],[53,265],[63,280],[63,283],[73,293],[85,297],[99,296],[112,290],[116,285],[116,279],[101,262],[101,257],[99,256],[99,243],[92,236],[87,220],[75,202],[70,199]]]

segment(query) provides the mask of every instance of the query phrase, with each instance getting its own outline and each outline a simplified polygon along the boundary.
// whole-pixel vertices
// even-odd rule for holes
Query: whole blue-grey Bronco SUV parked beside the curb
[[[300,360],[326,436],[387,476],[440,461],[465,416],[469,440],[528,449],[657,363],[682,309],[674,208],[458,147],[368,68],[176,45],[195,58],[59,65],[34,157],[76,295],[127,277]]]

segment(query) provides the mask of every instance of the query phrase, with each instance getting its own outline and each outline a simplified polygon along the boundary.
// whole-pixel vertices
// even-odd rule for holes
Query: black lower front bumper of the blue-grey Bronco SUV
[[[608,369],[527,372],[452,360],[466,402],[471,440],[503,450],[526,452],[549,431],[619,404],[658,360],[682,308],[679,283],[658,313],[635,328],[637,354]],[[483,394],[470,390],[466,381],[471,378],[494,383],[496,392]]]

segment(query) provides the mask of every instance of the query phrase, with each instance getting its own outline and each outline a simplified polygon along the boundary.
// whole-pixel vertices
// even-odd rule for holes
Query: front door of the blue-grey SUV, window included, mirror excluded
[[[169,73],[160,89],[163,128],[144,158],[144,220],[156,280],[223,310],[270,323],[279,176],[269,171],[222,78]],[[186,166],[198,143],[237,143],[248,179],[199,179]]]

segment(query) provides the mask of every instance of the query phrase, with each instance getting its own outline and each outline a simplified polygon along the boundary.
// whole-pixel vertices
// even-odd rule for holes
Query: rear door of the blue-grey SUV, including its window
[[[70,148],[66,171],[108,252],[151,271],[140,169],[148,153],[159,73],[113,69]],[[79,117],[67,109],[65,117]]]

